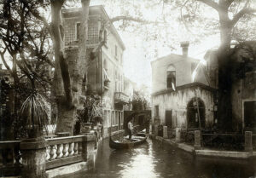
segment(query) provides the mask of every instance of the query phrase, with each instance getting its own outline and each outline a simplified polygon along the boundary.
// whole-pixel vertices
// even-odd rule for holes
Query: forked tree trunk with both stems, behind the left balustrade
[[[86,72],[86,39],[88,32],[90,0],[81,0],[79,55],[76,65],[69,69],[67,56],[64,51],[63,37],[61,37],[61,6],[62,3],[52,0],[52,31],[55,47],[55,96],[58,108],[57,132],[69,132],[73,135],[76,110],[80,105],[79,96],[82,94],[82,81]],[[69,72],[70,70],[70,72]]]

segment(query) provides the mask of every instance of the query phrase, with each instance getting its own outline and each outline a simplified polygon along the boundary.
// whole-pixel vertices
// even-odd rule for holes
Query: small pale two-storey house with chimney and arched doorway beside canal
[[[214,124],[214,89],[200,60],[188,57],[189,43],[181,46],[183,55],[151,62],[153,123],[168,129],[207,129]]]

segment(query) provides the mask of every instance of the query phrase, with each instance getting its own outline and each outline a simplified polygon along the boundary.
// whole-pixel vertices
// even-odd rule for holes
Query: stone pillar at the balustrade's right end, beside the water
[[[95,162],[95,141],[96,135],[94,133],[84,134],[82,142],[82,157],[87,162],[87,168],[91,169]]]

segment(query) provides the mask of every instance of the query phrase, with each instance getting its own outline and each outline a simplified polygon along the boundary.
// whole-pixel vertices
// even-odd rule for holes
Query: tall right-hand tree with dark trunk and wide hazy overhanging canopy
[[[113,0],[112,2],[117,1]],[[132,30],[136,31],[136,29],[139,29],[141,32],[138,33],[147,37],[147,41],[157,41],[162,43],[163,46],[169,46],[171,49],[175,49],[175,46],[180,41],[180,38],[177,36],[185,36],[192,40],[193,43],[199,43],[207,36],[219,35],[220,45],[217,53],[218,123],[222,129],[230,130],[232,125],[232,72],[234,72],[234,65],[231,60],[234,50],[231,49],[231,42],[234,40],[236,42],[255,40],[255,2],[252,0],[160,0],[140,1],[140,3],[135,1],[119,1],[119,4],[123,4],[125,7],[120,10],[124,15],[146,16],[140,10],[143,9],[143,6],[154,12],[160,12],[160,14],[155,14],[155,17],[150,17],[158,21],[158,26],[154,25],[149,28],[150,32],[144,26],[144,30],[142,30],[142,27],[139,25]],[[119,24],[121,29],[124,26],[129,25],[125,24],[125,22]],[[164,37],[160,36],[162,32],[165,32],[163,29],[169,31],[164,33],[166,35]],[[183,35],[178,33],[177,29]],[[149,36],[145,34],[149,34]],[[190,37],[187,34],[190,34]],[[156,45],[158,46],[159,44],[157,43]],[[152,46],[154,46],[154,43]],[[156,52],[154,54],[156,55],[154,56],[157,57],[157,48],[155,49]],[[149,50],[152,51],[152,49]]]

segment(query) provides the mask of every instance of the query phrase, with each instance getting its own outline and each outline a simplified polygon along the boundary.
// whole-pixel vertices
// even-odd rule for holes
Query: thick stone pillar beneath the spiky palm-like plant
[[[22,154],[22,177],[44,178],[46,162],[46,141],[44,137],[26,139],[20,142]]]

